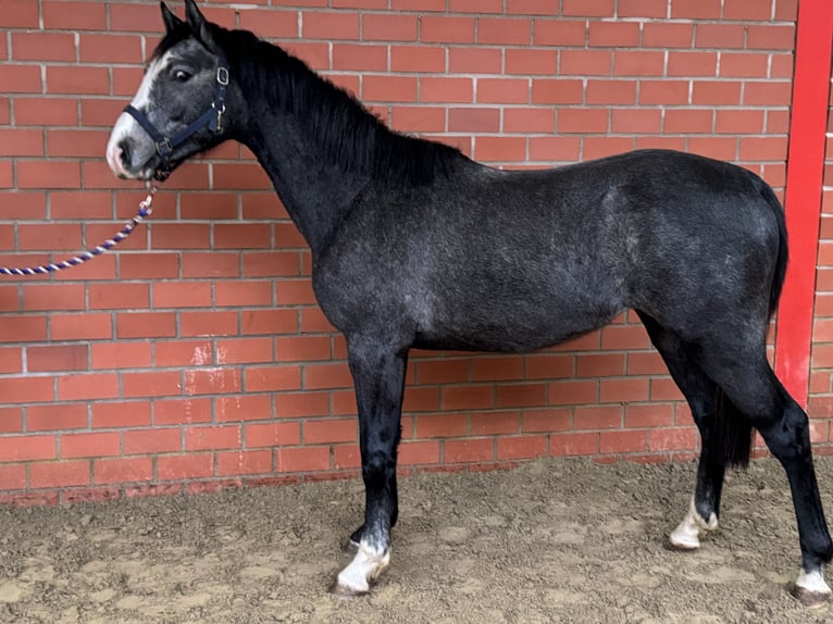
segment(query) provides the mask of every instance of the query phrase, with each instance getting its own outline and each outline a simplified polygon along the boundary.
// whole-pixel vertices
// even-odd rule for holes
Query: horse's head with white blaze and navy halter
[[[215,41],[222,29],[206,21],[194,0],[185,4],[183,21],[162,2],[165,36],[110,135],[107,162],[119,177],[164,179],[188,157],[228,138],[233,87]]]

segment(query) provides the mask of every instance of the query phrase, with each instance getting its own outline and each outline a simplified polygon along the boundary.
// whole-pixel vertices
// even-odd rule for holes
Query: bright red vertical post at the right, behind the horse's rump
[[[801,405],[807,405],[810,376],[832,48],[833,1],[801,0],[798,3],[784,201],[790,264],[775,338],[775,372]]]

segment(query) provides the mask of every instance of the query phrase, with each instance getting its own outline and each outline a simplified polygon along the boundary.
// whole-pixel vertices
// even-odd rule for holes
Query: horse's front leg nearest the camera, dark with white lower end
[[[397,515],[396,451],[407,349],[394,351],[371,340],[348,339],[348,361],[359,408],[359,445],[364,479],[364,525],[356,556],[338,575],[335,592],[359,596],[390,563],[390,526]]]

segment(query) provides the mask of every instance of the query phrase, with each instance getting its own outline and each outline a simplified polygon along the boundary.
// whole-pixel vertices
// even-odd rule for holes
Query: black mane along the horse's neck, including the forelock
[[[157,54],[183,37],[177,30],[161,41]],[[187,36],[187,25],[185,30]],[[295,115],[328,158],[351,171],[422,185],[447,177],[468,160],[456,148],[391,130],[346,90],[248,30],[214,27],[212,38],[247,95],[261,95]]]

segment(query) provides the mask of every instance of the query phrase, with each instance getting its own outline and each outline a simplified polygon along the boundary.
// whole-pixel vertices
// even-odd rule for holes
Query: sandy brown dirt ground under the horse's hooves
[[[833,459],[818,469],[833,510]],[[672,552],[693,479],[692,464],[584,460],[402,479],[391,567],[352,600],[330,588],[358,482],[0,509],[0,622],[833,621],[787,594],[799,556],[781,467],[732,474],[722,528]]]

